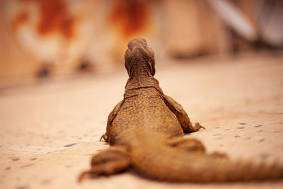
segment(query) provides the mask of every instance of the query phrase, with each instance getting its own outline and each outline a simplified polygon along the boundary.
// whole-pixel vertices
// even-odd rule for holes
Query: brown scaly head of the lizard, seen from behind
[[[139,65],[138,65],[139,64]],[[125,67],[129,76],[135,67],[146,67],[151,76],[155,74],[154,52],[144,39],[134,39],[128,43],[125,53]]]

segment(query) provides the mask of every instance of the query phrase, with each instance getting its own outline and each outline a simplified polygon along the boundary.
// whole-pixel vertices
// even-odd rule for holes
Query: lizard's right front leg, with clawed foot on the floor
[[[192,126],[190,118],[187,116],[187,113],[183,109],[182,105],[180,105],[180,103],[176,102],[170,96],[166,96],[164,94],[162,96],[168,108],[175,114],[176,118],[179,120],[184,132],[196,132],[200,130],[200,128],[203,128],[205,130],[205,128],[202,127],[202,125],[200,125],[200,123],[198,122],[195,123],[195,127]]]

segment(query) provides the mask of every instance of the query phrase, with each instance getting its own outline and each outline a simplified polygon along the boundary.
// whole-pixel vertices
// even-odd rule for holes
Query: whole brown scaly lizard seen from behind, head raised
[[[110,148],[93,156],[86,176],[111,175],[132,167],[141,175],[161,181],[263,181],[283,178],[282,166],[230,161],[225,154],[207,154],[182,106],[166,96],[154,79],[154,52],[144,39],[129,42],[125,52],[129,79],[124,99],[108,116],[101,139]]]

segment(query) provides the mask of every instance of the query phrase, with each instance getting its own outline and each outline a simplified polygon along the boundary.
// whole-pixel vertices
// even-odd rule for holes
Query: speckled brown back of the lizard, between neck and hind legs
[[[132,137],[141,129],[166,137],[183,136],[180,123],[154,87],[132,89],[125,93],[120,111],[112,121],[110,143]]]

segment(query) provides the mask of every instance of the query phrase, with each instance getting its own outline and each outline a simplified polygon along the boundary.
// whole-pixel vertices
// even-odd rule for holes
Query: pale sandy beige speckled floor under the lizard
[[[187,137],[231,159],[283,164],[283,58],[186,63],[157,68],[156,79],[207,128]],[[108,147],[99,138],[126,80],[121,70],[0,91],[0,188],[283,188],[282,181],[165,183],[135,173],[76,183],[91,155]]]

